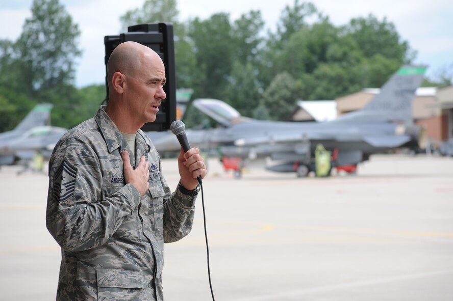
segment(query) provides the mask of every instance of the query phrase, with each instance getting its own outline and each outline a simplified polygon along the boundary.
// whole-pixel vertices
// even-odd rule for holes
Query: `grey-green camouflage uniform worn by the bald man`
[[[139,130],[137,167],[149,163],[149,189],[140,197],[124,183],[118,128],[100,107],[69,130],[49,162],[47,229],[61,246],[58,300],[163,300],[163,243],[186,236],[196,191],[171,191],[159,155]]]

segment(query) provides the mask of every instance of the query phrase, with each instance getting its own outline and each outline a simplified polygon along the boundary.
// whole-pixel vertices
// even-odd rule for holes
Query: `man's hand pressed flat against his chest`
[[[121,153],[123,159],[123,168],[124,168],[124,181],[126,184],[132,184],[137,188],[140,196],[144,196],[148,190],[148,178],[149,178],[149,168],[148,162],[145,160],[143,155],[138,163],[137,168],[134,170],[131,165],[131,160],[129,159],[129,153],[123,151]]]

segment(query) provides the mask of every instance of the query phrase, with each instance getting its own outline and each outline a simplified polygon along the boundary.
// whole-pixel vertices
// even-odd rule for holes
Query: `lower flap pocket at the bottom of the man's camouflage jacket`
[[[114,268],[96,269],[98,300],[138,300],[143,290],[143,272]]]

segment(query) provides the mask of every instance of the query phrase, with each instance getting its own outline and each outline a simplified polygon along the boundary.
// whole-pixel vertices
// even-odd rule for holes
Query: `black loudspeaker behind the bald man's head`
[[[176,120],[176,79],[174,66],[174,42],[173,24],[171,23],[147,23],[128,27],[128,32],[105,36],[104,45],[106,47],[106,90],[107,99],[109,98],[109,85],[107,83],[107,62],[113,49],[126,41],[134,41],[156,51],[165,65],[166,83],[164,91],[167,97],[159,107],[156,121],[145,123],[142,127],[144,131],[165,131],[170,129],[170,124]]]

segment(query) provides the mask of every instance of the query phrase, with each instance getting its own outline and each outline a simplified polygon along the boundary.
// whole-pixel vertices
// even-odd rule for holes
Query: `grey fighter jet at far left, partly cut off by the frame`
[[[36,151],[52,151],[67,131],[49,126],[52,104],[37,104],[13,130],[0,134],[0,166],[29,159]]]

